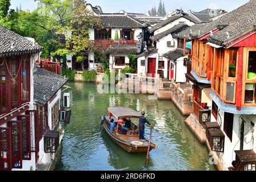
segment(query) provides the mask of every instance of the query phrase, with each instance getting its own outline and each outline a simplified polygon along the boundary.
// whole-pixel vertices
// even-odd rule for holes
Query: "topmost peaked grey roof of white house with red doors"
[[[156,24],[152,28],[150,28],[149,32],[151,34],[152,32],[158,30],[159,28],[166,26],[166,24],[169,24],[169,23],[173,22],[174,20],[177,20],[178,18],[182,18],[182,17],[190,20],[191,22],[199,23],[197,19],[195,19],[195,18],[193,18],[193,17],[191,17],[187,14],[174,15],[174,16],[171,16],[170,18],[167,18],[163,22],[160,22],[160,23]]]

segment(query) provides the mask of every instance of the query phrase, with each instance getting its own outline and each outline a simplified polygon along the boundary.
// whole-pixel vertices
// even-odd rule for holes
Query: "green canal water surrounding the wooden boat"
[[[100,116],[109,106],[145,111],[153,124],[153,142],[148,170],[216,170],[209,151],[198,142],[181,112],[171,101],[149,100],[147,94],[100,94],[97,84],[68,82],[71,89],[71,121],[63,126],[63,151],[55,170],[143,170],[146,154],[129,154],[103,130]],[[149,137],[146,125],[145,136]]]

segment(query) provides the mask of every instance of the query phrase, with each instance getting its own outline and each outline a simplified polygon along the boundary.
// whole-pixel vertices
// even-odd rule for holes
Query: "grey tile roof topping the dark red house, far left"
[[[29,39],[0,26],[0,57],[30,55],[42,51],[42,47]]]

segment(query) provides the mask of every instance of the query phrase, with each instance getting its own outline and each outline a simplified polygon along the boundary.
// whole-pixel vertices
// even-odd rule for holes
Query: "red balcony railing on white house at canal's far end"
[[[111,45],[135,45],[137,40],[94,40],[94,44],[103,51]]]

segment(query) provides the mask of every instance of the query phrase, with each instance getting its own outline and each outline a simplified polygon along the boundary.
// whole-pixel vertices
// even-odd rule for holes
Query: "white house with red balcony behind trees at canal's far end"
[[[90,40],[109,55],[110,70],[130,65],[129,54],[142,51],[146,24],[127,14],[100,14],[103,28],[89,28]],[[94,52],[89,52],[89,69],[98,64]]]

